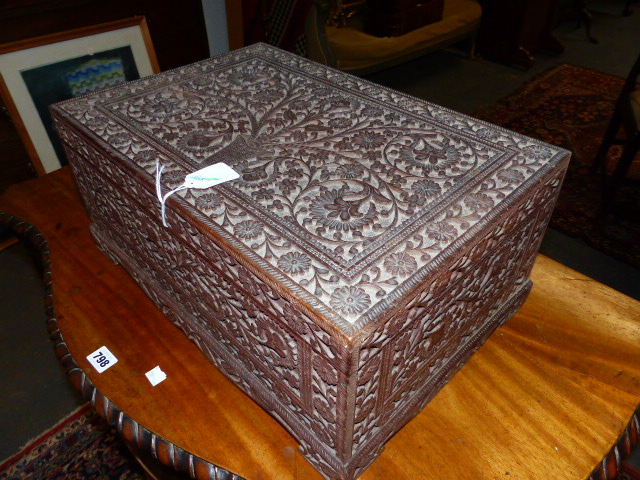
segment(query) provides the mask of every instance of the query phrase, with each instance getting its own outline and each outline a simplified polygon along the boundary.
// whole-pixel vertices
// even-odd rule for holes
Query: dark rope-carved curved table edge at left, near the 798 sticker
[[[108,425],[129,444],[149,452],[151,456],[178,472],[188,473],[196,480],[245,480],[244,477],[229,472],[197,457],[170,441],[151,432],[120,410],[108,397],[93,385],[84,371],[72,357],[58,328],[53,301],[51,259],[49,245],[44,235],[33,225],[7,212],[0,211],[0,233],[12,232],[21,243],[38,256],[40,273],[44,282],[44,308],[47,332],[60,364],[65,369],[69,381],[77,388],[93,409],[106,420]]]

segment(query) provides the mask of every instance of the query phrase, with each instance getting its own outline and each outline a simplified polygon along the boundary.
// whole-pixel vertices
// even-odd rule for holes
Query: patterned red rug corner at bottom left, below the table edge
[[[0,480],[142,480],[126,447],[89,404],[0,465]]]

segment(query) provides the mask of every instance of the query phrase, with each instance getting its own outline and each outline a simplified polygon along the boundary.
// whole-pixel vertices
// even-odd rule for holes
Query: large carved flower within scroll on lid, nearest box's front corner
[[[311,216],[314,220],[331,230],[360,230],[376,219],[376,207],[364,200],[347,200],[344,198],[344,189],[333,189],[315,198],[311,203]]]

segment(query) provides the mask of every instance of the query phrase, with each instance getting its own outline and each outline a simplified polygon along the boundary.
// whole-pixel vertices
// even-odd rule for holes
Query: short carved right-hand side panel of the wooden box
[[[373,445],[385,442],[415,416],[524,301],[563,173],[560,169],[542,179],[499,223],[477,235],[459,258],[408,296],[394,318],[364,339],[354,463],[366,463]]]

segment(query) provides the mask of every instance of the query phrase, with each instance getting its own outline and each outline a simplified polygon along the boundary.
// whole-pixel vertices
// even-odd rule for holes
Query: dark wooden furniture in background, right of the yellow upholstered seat
[[[531,68],[539,50],[561,53],[553,37],[560,0],[479,0],[482,23],[477,52],[490,60]]]

